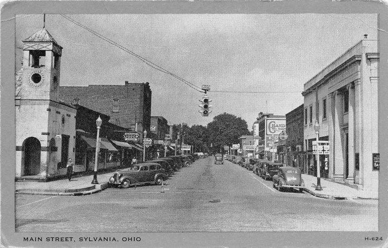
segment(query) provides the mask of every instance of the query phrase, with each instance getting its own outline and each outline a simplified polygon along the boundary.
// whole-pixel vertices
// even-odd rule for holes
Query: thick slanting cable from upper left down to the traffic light
[[[142,56],[140,56],[140,55],[134,53],[133,51],[131,51],[131,50],[129,50],[129,49],[127,49],[127,48],[121,46],[120,44],[114,42],[113,40],[111,40],[111,39],[109,39],[109,38],[103,36],[102,34],[97,33],[96,31],[94,31],[94,30],[92,30],[92,29],[90,29],[90,28],[88,28],[88,27],[82,25],[81,23],[77,22],[76,20],[74,20],[74,19],[72,19],[72,18],[70,18],[70,17],[68,17],[68,16],[66,16],[66,15],[61,15],[61,16],[64,17],[65,19],[69,20],[70,22],[76,24],[77,26],[79,26],[79,27],[81,27],[81,28],[83,28],[83,29],[89,31],[90,33],[93,33],[94,35],[96,35],[96,36],[99,37],[100,39],[103,39],[103,40],[105,40],[106,42],[112,44],[113,46],[116,46],[116,47],[118,47],[119,49],[121,49],[121,50],[123,50],[123,51],[125,51],[125,52],[128,52],[129,54],[131,54],[131,55],[137,57],[138,59],[140,59],[141,61],[143,61],[147,66],[151,66],[151,67],[154,68],[154,69],[157,69],[157,70],[159,70],[159,71],[161,71],[161,72],[163,72],[163,73],[166,73],[166,74],[168,74],[168,75],[171,75],[171,76],[173,76],[174,78],[178,79],[179,81],[185,83],[185,84],[188,85],[189,87],[193,88],[194,90],[203,93],[202,89],[201,89],[200,87],[196,86],[194,83],[190,83],[190,82],[188,82],[187,80],[185,80],[185,79],[183,79],[183,78],[181,78],[181,77],[175,75],[174,73],[172,73],[172,72],[170,72],[170,71],[164,69],[163,67],[158,66],[158,65],[152,63],[151,61],[147,60],[146,58],[143,58]]]

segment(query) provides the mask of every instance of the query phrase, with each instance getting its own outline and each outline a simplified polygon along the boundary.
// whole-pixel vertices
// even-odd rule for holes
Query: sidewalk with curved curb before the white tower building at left
[[[98,184],[92,184],[93,175],[67,178],[50,182],[15,182],[16,194],[82,196],[97,193],[108,188],[108,180],[113,172],[97,175]]]

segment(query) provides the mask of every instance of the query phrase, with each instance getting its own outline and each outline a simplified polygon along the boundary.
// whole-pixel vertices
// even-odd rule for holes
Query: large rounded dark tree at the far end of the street
[[[207,126],[207,145],[212,145],[212,152],[218,153],[224,150],[224,146],[238,144],[242,135],[249,134],[248,125],[241,117],[223,113],[214,116]]]

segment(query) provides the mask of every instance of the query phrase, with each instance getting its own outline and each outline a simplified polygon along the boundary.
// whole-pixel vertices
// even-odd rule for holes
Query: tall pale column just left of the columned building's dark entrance
[[[343,181],[343,139],[342,130],[339,127],[343,123],[343,102],[342,93],[335,91],[335,108],[334,108],[334,180]]]

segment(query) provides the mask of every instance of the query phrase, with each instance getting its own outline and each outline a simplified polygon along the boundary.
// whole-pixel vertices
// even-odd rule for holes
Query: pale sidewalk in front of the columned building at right
[[[324,180],[321,178],[322,190],[317,191],[317,178],[311,175],[302,174],[302,179],[305,181],[305,191],[316,197],[328,199],[353,199],[353,198],[370,198],[378,199],[378,193],[371,191],[357,190],[352,187]]]

